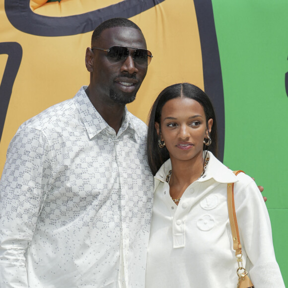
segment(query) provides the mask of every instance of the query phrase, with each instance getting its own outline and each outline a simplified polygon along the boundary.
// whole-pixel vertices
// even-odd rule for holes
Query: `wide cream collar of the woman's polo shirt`
[[[210,158],[210,160],[207,164],[204,175],[197,180],[198,182],[205,182],[212,178],[218,183],[235,183],[238,181],[234,173],[230,169],[228,169],[224,164],[222,164],[212,154],[212,152],[208,152],[207,156]],[[160,167],[160,169],[154,176],[155,180],[165,182],[169,170],[171,170],[170,158]]]

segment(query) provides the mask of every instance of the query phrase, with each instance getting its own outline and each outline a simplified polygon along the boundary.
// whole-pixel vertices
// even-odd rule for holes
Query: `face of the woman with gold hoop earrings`
[[[211,132],[213,119],[208,121]],[[157,134],[169,151],[171,160],[190,160],[203,153],[203,141],[208,137],[204,109],[190,98],[174,98],[165,103],[161,113],[161,132]]]

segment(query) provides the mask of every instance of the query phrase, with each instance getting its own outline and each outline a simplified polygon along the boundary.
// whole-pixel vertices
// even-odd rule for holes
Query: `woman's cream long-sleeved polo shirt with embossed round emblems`
[[[178,206],[165,182],[170,159],[154,177],[146,288],[236,287],[238,266],[227,209],[230,182],[235,183],[243,266],[255,288],[285,288],[258,187],[244,173],[236,177],[210,152],[209,157],[205,174],[186,189]]]

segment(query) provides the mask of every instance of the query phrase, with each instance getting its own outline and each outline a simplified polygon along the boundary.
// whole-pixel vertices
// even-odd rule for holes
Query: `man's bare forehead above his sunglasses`
[[[97,44],[146,48],[145,38],[142,32],[132,27],[113,27],[102,31],[96,41]],[[109,48],[106,47],[106,48]]]

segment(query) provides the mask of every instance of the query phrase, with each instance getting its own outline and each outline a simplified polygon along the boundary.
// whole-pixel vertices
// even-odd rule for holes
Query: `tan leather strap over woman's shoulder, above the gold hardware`
[[[242,170],[233,171],[235,175],[239,174],[240,172],[243,172],[243,171]],[[230,226],[231,226],[231,231],[232,231],[233,249],[235,250],[235,255],[239,255],[239,254],[242,254],[242,251],[241,251],[242,246],[240,243],[240,237],[239,237],[239,231],[238,231],[238,225],[237,225],[233,188],[234,188],[234,183],[227,184],[228,215],[229,215]]]

